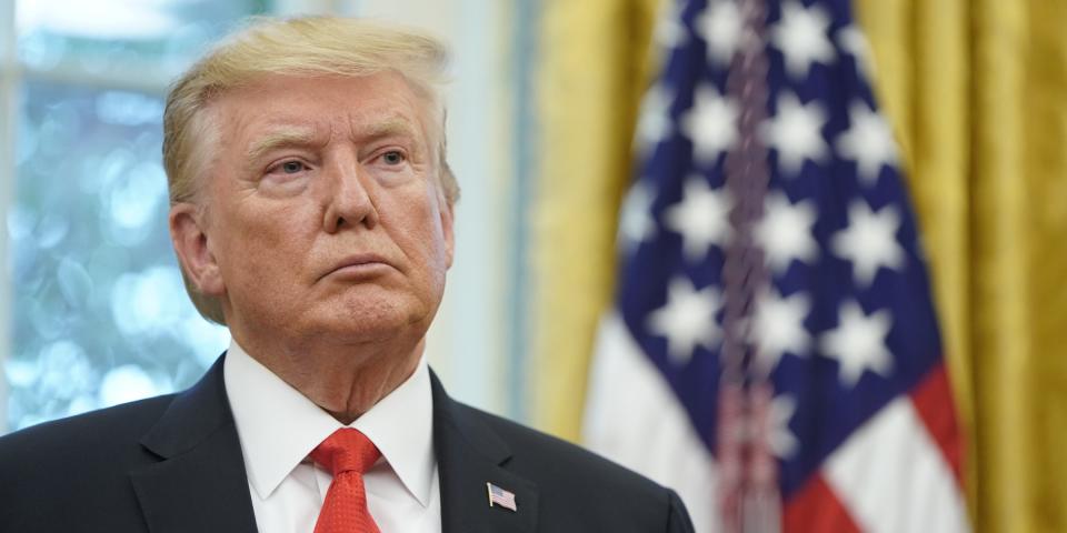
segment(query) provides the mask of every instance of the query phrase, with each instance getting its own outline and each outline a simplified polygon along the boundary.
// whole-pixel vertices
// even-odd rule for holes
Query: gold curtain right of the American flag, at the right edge
[[[929,252],[976,529],[1067,531],[1067,1],[856,8]]]

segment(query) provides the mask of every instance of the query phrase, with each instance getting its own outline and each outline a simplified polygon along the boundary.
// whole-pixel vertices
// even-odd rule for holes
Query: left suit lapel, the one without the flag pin
[[[245,459],[222,380],[223,358],[177,395],[141,439],[161,459],[130,472],[152,533],[256,532]]]

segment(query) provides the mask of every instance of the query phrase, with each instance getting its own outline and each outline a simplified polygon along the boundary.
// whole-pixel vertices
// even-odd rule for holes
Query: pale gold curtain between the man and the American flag
[[[546,0],[534,205],[532,415],[577,441],[592,335],[615,283],[615,229],[656,0]]]

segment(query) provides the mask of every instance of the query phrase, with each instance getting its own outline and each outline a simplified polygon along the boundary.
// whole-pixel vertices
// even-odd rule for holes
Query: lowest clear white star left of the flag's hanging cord
[[[711,350],[719,340],[715,313],[721,304],[721,296],[714,284],[697,292],[688,278],[676,276],[670,280],[667,303],[649,314],[648,329],[667,338],[670,359],[685,364],[692,359],[697,344]]]

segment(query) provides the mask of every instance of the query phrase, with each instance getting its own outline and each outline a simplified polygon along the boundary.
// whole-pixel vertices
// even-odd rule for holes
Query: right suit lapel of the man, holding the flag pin
[[[436,375],[431,383],[442,533],[532,532],[537,485],[509,472],[508,445],[472,411],[450,399]],[[513,493],[516,511],[490,506],[487,483]]]

